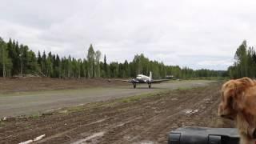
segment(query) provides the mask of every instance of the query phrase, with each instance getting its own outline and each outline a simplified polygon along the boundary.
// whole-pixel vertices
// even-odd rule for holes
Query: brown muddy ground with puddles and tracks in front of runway
[[[221,82],[94,102],[0,124],[0,143],[18,143],[46,134],[35,143],[166,143],[179,126],[233,127],[218,118]]]

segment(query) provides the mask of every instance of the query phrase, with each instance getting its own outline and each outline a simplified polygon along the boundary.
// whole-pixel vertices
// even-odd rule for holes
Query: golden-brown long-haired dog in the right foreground
[[[235,121],[241,144],[256,143],[256,81],[230,80],[222,85],[218,115]]]

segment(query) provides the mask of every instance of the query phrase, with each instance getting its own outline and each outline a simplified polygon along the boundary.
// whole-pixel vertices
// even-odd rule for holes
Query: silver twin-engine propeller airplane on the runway
[[[170,79],[158,79],[154,80],[152,79],[152,72],[150,71],[150,76],[146,76],[143,74],[138,74],[136,78],[130,79],[130,80],[122,80],[122,82],[130,82],[134,85],[134,89],[136,88],[137,83],[147,83],[149,85],[149,88],[151,88],[151,83],[160,83],[170,81]]]

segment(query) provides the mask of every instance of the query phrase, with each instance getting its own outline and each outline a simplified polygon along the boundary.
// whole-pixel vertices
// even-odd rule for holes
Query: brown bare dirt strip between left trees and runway
[[[66,90],[83,89],[100,86],[125,86],[126,82],[110,81],[105,78],[58,79],[40,77],[0,78],[0,93],[36,91],[36,90]]]

